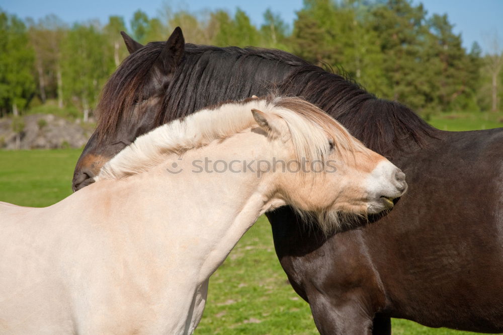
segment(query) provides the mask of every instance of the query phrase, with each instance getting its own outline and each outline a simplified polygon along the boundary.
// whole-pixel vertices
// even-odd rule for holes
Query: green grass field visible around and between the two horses
[[[495,116],[431,120],[440,129],[501,126]],[[494,120],[492,118],[494,117]],[[452,128],[451,128],[452,127]],[[73,167],[81,150],[0,151],[0,201],[47,206],[71,194]],[[317,334],[309,306],[291,288],[274,252],[265,217],[243,236],[211,277],[204,317],[196,334]],[[473,334],[433,329],[394,319],[393,334]]]

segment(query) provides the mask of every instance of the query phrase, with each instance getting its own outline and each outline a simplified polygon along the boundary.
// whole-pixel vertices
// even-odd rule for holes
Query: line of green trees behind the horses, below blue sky
[[[119,16],[68,25],[54,15],[22,20],[0,10],[0,116],[50,101],[86,121],[127,56],[119,32],[147,43],[177,26],[188,43],[292,52],[424,115],[497,111],[503,100],[501,51],[482,55],[476,42],[466,50],[447,15],[429,15],[411,0],[304,0],[292,26],[269,9],[260,27],[240,9],[160,12],[149,18],[138,10],[126,26]]]

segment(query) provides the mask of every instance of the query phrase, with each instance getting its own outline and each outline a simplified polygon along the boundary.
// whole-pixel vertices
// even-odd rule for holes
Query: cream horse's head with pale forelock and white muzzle
[[[319,108],[285,97],[272,105],[252,113],[276,150],[278,192],[301,214],[314,214],[323,230],[340,229],[345,214],[390,210],[407,190],[398,167]]]

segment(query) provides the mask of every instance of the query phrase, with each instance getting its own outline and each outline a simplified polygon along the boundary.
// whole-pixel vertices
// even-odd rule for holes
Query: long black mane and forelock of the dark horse
[[[114,132],[150,78],[164,42],[152,42],[126,58],[107,82],[99,103],[97,133]],[[410,138],[422,144],[433,129],[409,108],[376,98],[357,83],[314,66],[288,52],[261,48],[219,48],[186,44],[185,56],[165,88],[157,124],[186,116],[226,100],[242,100],[271,91],[299,96],[341,122],[369,148],[381,154]]]

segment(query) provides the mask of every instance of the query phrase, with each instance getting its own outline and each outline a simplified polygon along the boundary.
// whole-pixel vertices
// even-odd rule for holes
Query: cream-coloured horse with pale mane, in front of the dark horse
[[[200,111],[139,137],[52,206],[0,205],[0,333],[192,333],[209,277],[259,215],[291,205],[330,232],[336,213],[388,209],[405,188],[298,98]]]

